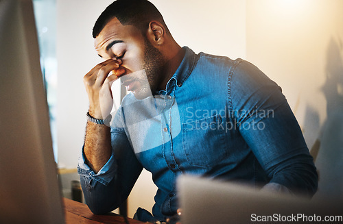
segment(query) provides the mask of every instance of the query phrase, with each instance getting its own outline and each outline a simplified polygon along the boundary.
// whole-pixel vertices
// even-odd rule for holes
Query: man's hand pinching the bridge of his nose
[[[108,59],[97,64],[84,75],[84,86],[88,94],[89,114],[96,119],[106,119],[113,108],[110,87],[126,70],[120,67],[121,60]],[[113,71],[113,74],[109,75]]]

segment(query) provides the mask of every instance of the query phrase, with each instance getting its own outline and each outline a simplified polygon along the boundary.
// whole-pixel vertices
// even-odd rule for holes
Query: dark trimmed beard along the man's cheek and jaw
[[[163,66],[165,60],[163,55],[156,47],[144,38],[144,62],[143,72],[139,79],[140,86],[134,91],[134,97],[137,99],[145,99],[154,95],[154,92],[158,89],[159,84],[163,81]]]

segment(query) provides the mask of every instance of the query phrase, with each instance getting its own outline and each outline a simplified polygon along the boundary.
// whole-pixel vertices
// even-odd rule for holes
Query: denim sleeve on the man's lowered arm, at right
[[[235,119],[241,136],[270,178],[265,189],[281,185],[285,188],[277,188],[314,195],[316,167],[281,88],[244,60],[236,63],[230,74]]]

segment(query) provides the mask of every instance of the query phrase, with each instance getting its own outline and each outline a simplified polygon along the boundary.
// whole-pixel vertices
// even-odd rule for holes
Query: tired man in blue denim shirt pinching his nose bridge
[[[153,214],[137,210],[141,221],[176,214],[183,174],[314,195],[318,177],[298,123],[257,67],[181,48],[145,0],[109,5],[93,38],[105,61],[84,76],[90,105],[78,171],[95,214],[117,208],[143,168],[158,191]],[[119,77],[130,94],[110,113]]]

